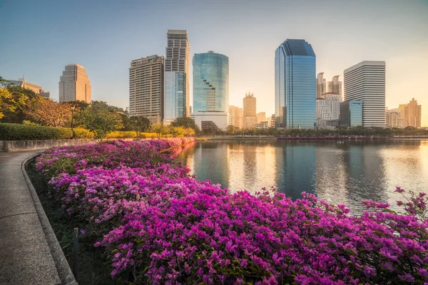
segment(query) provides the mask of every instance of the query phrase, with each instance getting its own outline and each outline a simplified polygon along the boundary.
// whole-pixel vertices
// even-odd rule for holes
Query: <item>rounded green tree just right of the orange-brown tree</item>
[[[83,110],[82,119],[85,128],[90,130],[100,142],[121,123],[116,108],[101,101],[93,101],[90,108]]]

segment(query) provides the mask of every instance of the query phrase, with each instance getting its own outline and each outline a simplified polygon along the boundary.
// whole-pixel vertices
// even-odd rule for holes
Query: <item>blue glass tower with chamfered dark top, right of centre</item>
[[[287,39],[275,51],[277,128],[314,128],[317,120],[316,58],[305,40]]]

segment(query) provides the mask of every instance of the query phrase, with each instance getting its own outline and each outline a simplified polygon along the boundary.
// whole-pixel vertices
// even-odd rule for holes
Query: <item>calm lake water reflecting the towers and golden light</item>
[[[395,186],[428,192],[428,140],[196,142],[177,156],[199,180],[231,192],[275,186],[297,198],[306,191],[360,212],[361,200],[395,205]]]

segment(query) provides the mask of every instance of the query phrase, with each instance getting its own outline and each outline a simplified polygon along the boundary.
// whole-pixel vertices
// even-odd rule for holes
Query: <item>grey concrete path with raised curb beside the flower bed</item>
[[[24,163],[38,152],[0,152],[0,284],[77,284]]]

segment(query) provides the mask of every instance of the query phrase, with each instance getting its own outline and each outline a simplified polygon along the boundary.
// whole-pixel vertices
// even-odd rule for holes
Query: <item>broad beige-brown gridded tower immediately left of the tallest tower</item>
[[[141,115],[151,123],[163,120],[163,56],[131,61],[129,68],[129,114]]]

